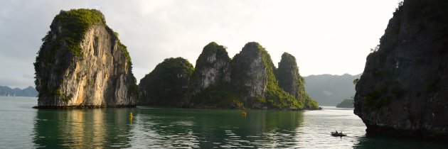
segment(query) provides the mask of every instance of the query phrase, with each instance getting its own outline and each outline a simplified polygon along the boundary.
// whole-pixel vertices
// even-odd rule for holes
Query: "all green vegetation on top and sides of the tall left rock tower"
[[[50,25],[50,31],[42,38],[43,44],[38,50],[38,56],[36,62],[33,64],[36,71],[36,89],[39,91],[39,97],[42,96],[59,96],[59,99],[68,101],[69,96],[60,92],[59,84],[64,80],[63,73],[73,68],[73,64],[78,60],[86,60],[85,52],[81,45],[85,40],[87,31],[92,27],[105,28],[107,33],[111,37],[112,44],[117,42],[117,49],[122,52],[125,60],[127,60],[126,69],[127,72],[132,74],[132,62],[127,47],[123,45],[118,37],[117,33],[112,31],[106,25],[105,17],[100,11],[95,9],[71,9],[70,11],[60,11],[58,15],[53,18],[53,22]],[[95,35],[94,43],[100,42],[100,38]],[[96,49],[97,47],[95,47]],[[113,48],[113,47],[112,47]],[[110,51],[110,50],[109,50]],[[124,65],[121,63],[119,65]],[[55,72],[55,73],[54,73]],[[51,78],[51,74],[57,74]],[[53,80],[51,80],[53,79]],[[48,85],[48,82],[58,80],[55,84]],[[79,78],[78,78],[79,79]],[[139,89],[136,84],[136,79],[132,75],[130,82],[131,96],[137,96]],[[92,82],[89,82],[92,83]],[[54,87],[52,87],[54,86]]]

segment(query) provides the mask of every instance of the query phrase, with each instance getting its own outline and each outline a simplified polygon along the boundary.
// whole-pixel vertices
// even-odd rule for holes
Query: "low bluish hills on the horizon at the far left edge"
[[[38,92],[34,87],[26,87],[25,89],[14,88],[7,86],[0,86],[0,96],[38,96]]]

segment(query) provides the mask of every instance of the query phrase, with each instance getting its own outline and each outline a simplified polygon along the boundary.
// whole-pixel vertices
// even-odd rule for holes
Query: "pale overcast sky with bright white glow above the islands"
[[[34,86],[33,62],[41,38],[60,10],[99,9],[127,45],[137,80],[167,57],[193,65],[215,41],[230,57],[256,41],[275,65],[282,53],[297,58],[307,75],[363,72],[370,48],[398,6],[398,0],[0,0],[0,85]]]

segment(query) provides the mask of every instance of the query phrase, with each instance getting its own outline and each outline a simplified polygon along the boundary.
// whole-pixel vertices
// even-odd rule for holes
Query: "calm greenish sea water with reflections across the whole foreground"
[[[448,148],[366,136],[353,109],[31,109],[36,100],[0,96],[0,148]],[[348,136],[330,136],[335,130]]]

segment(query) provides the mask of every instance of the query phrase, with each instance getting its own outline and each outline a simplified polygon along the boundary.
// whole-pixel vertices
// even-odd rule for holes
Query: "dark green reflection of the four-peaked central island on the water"
[[[134,127],[135,141],[159,148],[280,148],[297,145],[296,131],[302,111],[139,109]],[[133,139],[134,140],[134,139]],[[296,143],[278,144],[278,143]]]

